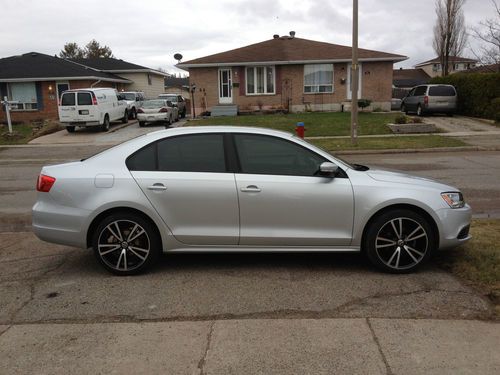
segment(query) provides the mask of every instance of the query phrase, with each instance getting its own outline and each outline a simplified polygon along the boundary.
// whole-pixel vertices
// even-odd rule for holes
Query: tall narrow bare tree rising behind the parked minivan
[[[464,3],[465,0],[436,0],[433,47],[443,76],[449,74],[450,56],[459,56],[467,43]]]

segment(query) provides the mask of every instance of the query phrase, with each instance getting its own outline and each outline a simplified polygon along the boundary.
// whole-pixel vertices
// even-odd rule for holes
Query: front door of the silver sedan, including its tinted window
[[[240,245],[348,246],[353,191],[346,175],[317,176],[321,155],[290,140],[235,133]]]

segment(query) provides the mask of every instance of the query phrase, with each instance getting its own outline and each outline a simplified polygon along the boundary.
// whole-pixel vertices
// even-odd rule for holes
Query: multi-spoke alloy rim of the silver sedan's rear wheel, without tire
[[[131,220],[115,220],[101,231],[97,252],[102,261],[117,271],[132,271],[147,260],[151,241],[146,230]]]

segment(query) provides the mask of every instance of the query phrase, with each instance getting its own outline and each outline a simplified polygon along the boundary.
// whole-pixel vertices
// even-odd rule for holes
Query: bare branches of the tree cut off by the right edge
[[[478,27],[471,28],[471,35],[479,42],[472,53],[482,64],[500,63],[500,7],[496,0],[491,0],[495,8],[493,18],[487,18]],[[497,66],[500,71],[500,66]]]

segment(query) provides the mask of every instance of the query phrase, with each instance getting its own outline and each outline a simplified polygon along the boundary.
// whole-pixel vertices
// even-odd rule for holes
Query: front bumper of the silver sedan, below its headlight
[[[469,241],[472,209],[468,204],[463,208],[442,208],[436,211],[439,218],[439,249],[449,249]]]

